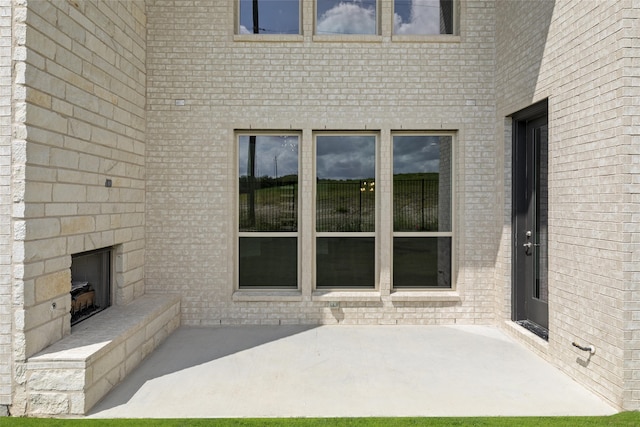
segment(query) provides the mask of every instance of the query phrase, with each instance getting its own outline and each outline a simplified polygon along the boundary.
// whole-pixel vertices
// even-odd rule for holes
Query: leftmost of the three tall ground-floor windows
[[[238,281],[298,287],[298,136],[238,135]]]

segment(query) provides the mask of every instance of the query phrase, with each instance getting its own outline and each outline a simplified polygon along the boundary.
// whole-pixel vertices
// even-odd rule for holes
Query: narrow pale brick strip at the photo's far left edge
[[[11,404],[11,0],[0,1],[0,416]]]

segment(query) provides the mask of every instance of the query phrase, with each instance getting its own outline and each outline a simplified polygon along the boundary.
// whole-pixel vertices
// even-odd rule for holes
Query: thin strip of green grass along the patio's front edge
[[[268,418],[268,419],[37,419],[0,418],[0,426],[221,426],[221,427],[401,427],[401,426],[638,426],[639,412],[610,417],[452,417],[452,418]]]

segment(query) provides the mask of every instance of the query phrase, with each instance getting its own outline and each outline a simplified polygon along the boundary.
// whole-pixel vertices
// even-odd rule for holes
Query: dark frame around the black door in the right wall
[[[548,126],[548,100],[543,100],[530,107],[527,107],[517,113],[511,115],[512,119],[512,175],[511,175],[511,191],[512,191],[512,207],[511,207],[511,242],[512,242],[512,273],[511,273],[511,320],[519,322],[522,326],[534,332],[536,335],[548,339],[548,312],[544,322],[536,322],[530,319],[527,303],[526,303],[526,286],[522,283],[522,276],[526,272],[521,271],[518,262],[524,255],[519,253],[523,242],[518,238],[518,209],[522,205],[522,200],[526,200],[522,191],[526,184],[518,182],[521,168],[526,164],[526,139],[529,124],[546,119]],[[548,180],[547,180],[548,182]],[[523,197],[524,196],[524,197]],[[535,266],[533,267],[535,268]],[[528,288],[527,288],[528,289]],[[540,323],[543,323],[540,325]]]

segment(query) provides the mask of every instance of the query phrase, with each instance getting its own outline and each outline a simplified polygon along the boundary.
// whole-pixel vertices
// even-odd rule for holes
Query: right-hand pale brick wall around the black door
[[[548,344],[526,340],[627,410],[640,407],[637,1],[499,1],[498,140],[504,223],[498,310],[510,318],[510,155],[505,117],[549,98]],[[504,126],[503,126],[504,125]],[[587,355],[571,343],[596,346]]]

